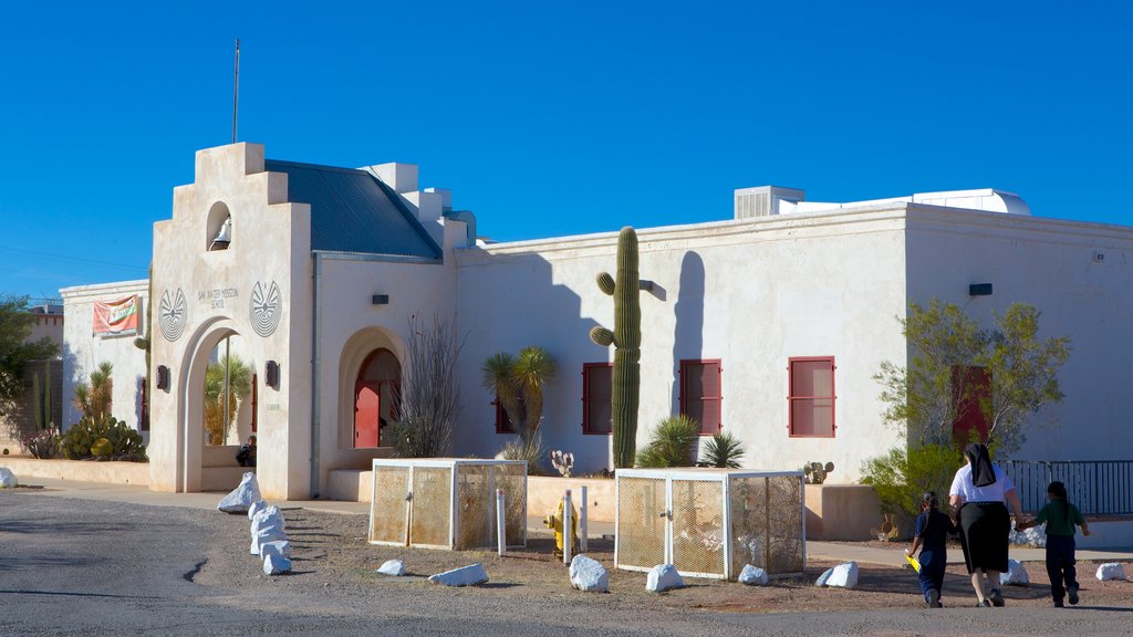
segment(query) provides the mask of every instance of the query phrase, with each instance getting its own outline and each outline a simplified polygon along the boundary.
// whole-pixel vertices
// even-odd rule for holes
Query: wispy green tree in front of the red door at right
[[[1038,317],[1034,307],[1013,304],[985,330],[954,304],[910,303],[900,320],[914,353],[909,366],[884,362],[874,376],[884,419],[921,444],[952,444],[956,425],[978,413],[987,423],[982,442],[1000,453],[1017,450],[1026,417],[1062,400],[1057,374],[1070,356],[1068,337],[1038,340]],[[965,373],[971,368],[982,374]]]

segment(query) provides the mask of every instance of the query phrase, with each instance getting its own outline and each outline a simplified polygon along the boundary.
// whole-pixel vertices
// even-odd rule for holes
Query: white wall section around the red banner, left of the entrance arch
[[[113,402],[111,415],[138,430],[142,425],[140,383],[145,379],[145,350],[134,345],[144,336],[145,316],[150,311],[148,281],[123,281],[99,286],[79,286],[60,290],[63,298],[63,422],[62,431],[79,421],[74,406],[75,385],[91,382],[91,372],[103,362],[113,365]],[[93,336],[94,304],[121,300],[138,295],[142,299],[138,333],[128,336]]]

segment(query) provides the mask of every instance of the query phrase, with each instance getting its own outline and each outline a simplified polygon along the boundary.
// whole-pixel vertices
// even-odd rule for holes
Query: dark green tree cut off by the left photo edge
[[[27,391],[28,381],[24,377],[27,362],[59,353],[59,346],[48,337],[28,340],[34,324],[26,296],[0,296],[0,414]]]

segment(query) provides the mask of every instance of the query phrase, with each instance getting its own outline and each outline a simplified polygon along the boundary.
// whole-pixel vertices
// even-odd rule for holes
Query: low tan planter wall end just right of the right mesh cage
[[[807,540],[876,540],[881,506],[874,487],[860,484],[808,484]],[[902,529],[904,530],[904,529]]]

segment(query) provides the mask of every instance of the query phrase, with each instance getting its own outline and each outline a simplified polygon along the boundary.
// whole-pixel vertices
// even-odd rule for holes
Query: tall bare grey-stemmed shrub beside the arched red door
[[[401,419],[392,424],[393,448],[399,456],[435,458],[452,445],[460,415],[457,357],[463,339],[441,316],[426,325],[409,317],[409,365],[401,377]]]

